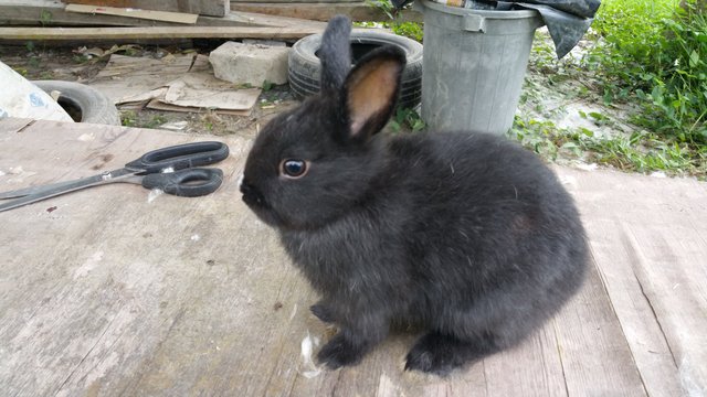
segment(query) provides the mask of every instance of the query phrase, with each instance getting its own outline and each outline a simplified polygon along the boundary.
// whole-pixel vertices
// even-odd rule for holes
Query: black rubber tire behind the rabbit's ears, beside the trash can
[[[354,30],[351,45],[362,44],[366,53],[373,47],[394,45],[405,52],[408,64],[402,74],[399,107],[414,108],[422,97],[422,44],[414,40],[377,30]],[[316,52],[321,45],[321,34],[313,34],[297,41],[289,52],[288,73],[289,87],[299,99],[319,92],[321,63]],[[368,51],[367,51],[368,50]],[[352,46],[352,62],[356,64],[362,55]]]

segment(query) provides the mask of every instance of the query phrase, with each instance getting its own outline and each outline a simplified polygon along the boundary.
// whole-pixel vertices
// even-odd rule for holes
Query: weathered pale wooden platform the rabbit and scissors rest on
[[[0,120],[0,191],[204,139]],[[558,168],[593,266],[547,326],[446,379],[403,372],[414,335],[389,337],[359,366],[318,372],[303,341],[321,345],[331,331],[238,192],[250,141],[218,139],[232,154],[212,195],[113,184],[0,213],[0,395],[707,394],[707,184]]]

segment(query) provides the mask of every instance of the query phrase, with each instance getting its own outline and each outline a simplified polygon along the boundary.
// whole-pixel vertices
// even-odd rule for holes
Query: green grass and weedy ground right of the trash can
[[[546,42],[536,42],[534,77],[521,97],[529,101],[526,116],[516,118],[509,135],[549,160],[706,180],[705,13],[680,9],[678,0],[604,0],[585,39],[579,58],[561,61]],[[555,119],[555,110],[537,108],[544,104],[538,84],[563,93],[564,104],[604,109],[580,111],[595,128],[560,128],[544,119]]]

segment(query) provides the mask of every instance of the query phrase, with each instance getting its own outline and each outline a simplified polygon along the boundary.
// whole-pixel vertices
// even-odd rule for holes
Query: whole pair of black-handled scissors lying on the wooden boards
[[[215,141],[157,149],[130,161],[119,170],[0,193],[0,200],[15,198],[0,204],[0,212],[81,189],[116,182],[141,184],[146,189],[160,189],[165,193],[183,197],[207,195],[219,189],[223,181],[223,172],[220,169],[197,167],[213,164],[226,157],[229,147]]]

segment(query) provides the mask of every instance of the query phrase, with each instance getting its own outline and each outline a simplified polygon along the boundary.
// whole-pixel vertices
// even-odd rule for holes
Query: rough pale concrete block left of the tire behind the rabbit
[[[235,84],[260,87],[264,81],[287,83],[289,47],[225,42],[209,54],[213,74]]]

